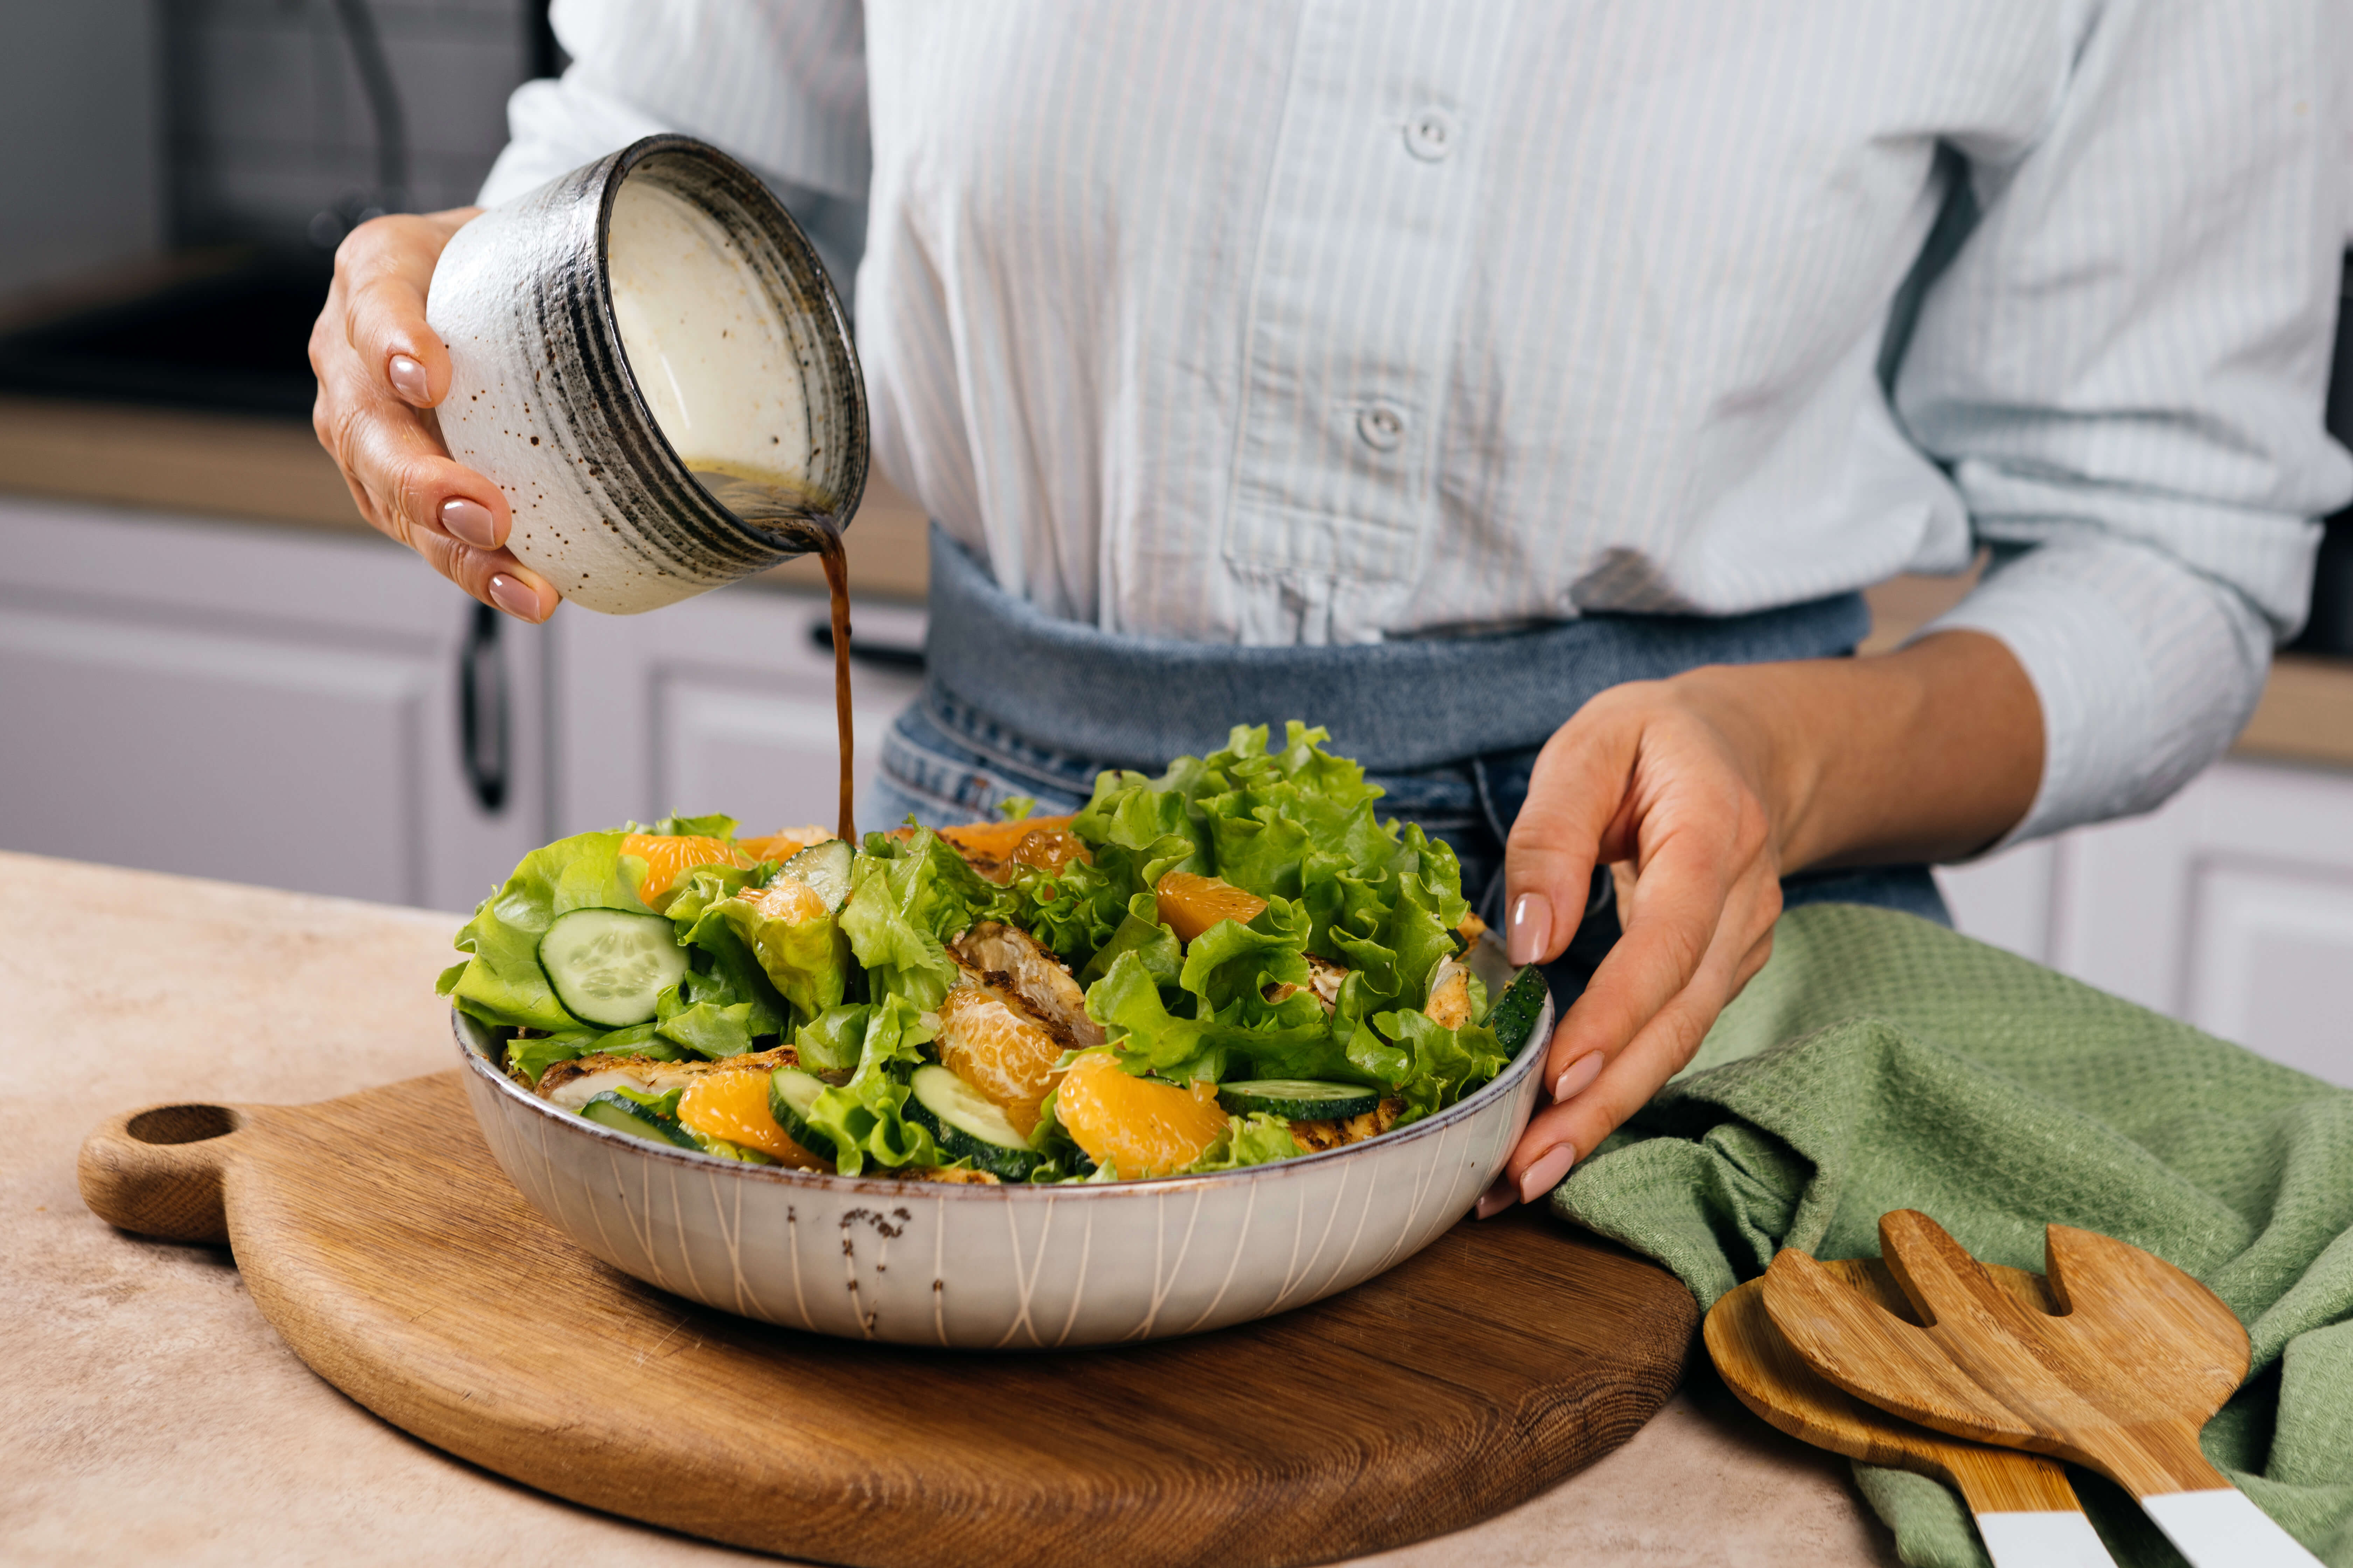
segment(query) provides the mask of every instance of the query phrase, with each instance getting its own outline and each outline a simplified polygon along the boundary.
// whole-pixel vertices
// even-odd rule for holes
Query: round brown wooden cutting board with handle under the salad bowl
[[[984,1356],[696,1307],[548,1227],[456,1072],[172,1107],[82,1145],[106,1220],[226,1239],[287,1345],[464,1460],[689,1535],[859,1568],[1322,1563],[1497,1514],[1624,1443],[1699,1309],[1541,1213],[1188,1340]]]

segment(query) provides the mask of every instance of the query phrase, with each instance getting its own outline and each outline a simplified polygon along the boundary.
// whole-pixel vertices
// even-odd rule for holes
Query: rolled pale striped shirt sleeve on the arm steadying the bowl
[[[2002,639],[2042,703],[2009,839],[2158,806],[2231,745],[2353,498],[2322,430],[2346,240],[2332,0],[2106,0],[2049,125],[1962,148],[1979,209],[1897,409],[1986,581],[1934,630]]]

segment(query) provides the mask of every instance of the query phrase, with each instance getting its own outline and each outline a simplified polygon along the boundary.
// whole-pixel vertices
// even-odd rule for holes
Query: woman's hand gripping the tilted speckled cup
[[[336,247],[334,287],[311,327],[311,428],[367,522],[475,599],[546,621],[555,588],[506,552],[506,496],[449,456],[433,414],[449,395],[449,350],[426,324],[426,287],[449,235],[478,212],[372,219]]]

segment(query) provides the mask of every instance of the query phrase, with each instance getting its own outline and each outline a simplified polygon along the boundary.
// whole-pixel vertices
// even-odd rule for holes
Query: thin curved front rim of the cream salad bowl
[[[558,1105],[553,1105],[548,1100],[541,1100],[539,1095],[529,1093],[527,1088],[522,1088],[520,1084],[515,1084],[511,1077],[506,1077],[504,1070],[494,1067],[492,1060],[489,1060],[489,1056],[473,1044],[473,1032],[475,1030],[487,1030],[487,1025],[482,1025],[478,1018],[459,1011],[456,1006],[449,1009],[449,1034],[456,1039],[459,1056],[466,1058],[466,1065],[478,1077],[487,1079],[492,1084],[492,1088],[496,1088],[499,1093],[506,1093],[513,1100],[532,1107],[541,1117],[548,1117],[548,1121],[562,1126],[565,1131],[581,1133],[581,1135],[586,1135],[591,1140],[605,1140],[607,1150],[626,1150],[631,1154],[640,1154],[640,1157],[647,1157],[647,1159],[673,1161],[673,1164],[680,1164],[680,1166],[689,1166],[694,1171],[729,1173],[729,1175],[736,1175],[736,1178],[744,1178],[744,1180],[767,1180],[767,1182],[781,1182],[786,1187],[800,1187],[800,1190],[814,1190],[814,1192],[842,1192],[842,1194],[864,1194],[864,1197],[875,1197],[875,1194],[892,1194],[892,1197],[918,1194],[918,1197],[939,1197],[939,1199],[958,1199],[958,1201],[981,1201],[981,1199],[993,1199],[993,1201],[1035,1201],[1035,1199],[1056,1199],[1056,1197],[1073,1197],[1073,1194],[1087,1194],[1087,1197],[1144,1194],[1144,1197],[1151,1197],[1151,1194],[1169,1194],[1169,1192],[1205,1192],[1209,1187],[1245,1185],[1245,1182],[1266,1180],[1271,1175],[1306,1175],[1311,1168],[1322,1168],[1325,1164],[1332,1164],[1332,1161],[1341,1161],[1341,1159],[1348,1159],[1348,1157],[1360,1157],[1367,1150],[1377,1150],[1377,1147],[1384,1147],[1384,1150],[1386,1147],[1405,1147],[1405,1145],[1417,1143],[1421,1138],[1431,1138],[1431,1135],[1445,1133],[1447,1128],[1452,1128],[1452,1126],[1457,1126],[1461,1121],[1473,1119],[1480,1110],[1485,1110],[1494,1100],[1501,1100],[1501,1098],[1508,1098],[1511,1093],[1515,1093],[1520,1088],[1520,1084],[1527,1079],[1527,1074],[1532,1074],[1537,1070],[1537,1063],[1544,1058],[1544,1053],[1551,1048],[1551,1044],[1553,1044],[1553,1025],[1555,1025],[1553,987],[1546,980],[1546,985],[1544,985],[1544,1006],[1537,1011],[1537,1027],[1529,1030],[1527,1044],[1520,1046],[1520,1053],[1513,1056],[1511,1063],[1504,1065],[1504,1072],[1494,1074],[1492,1079],[1487,1079],[1487,1084],[1482,1084],[1480,1088],[1475,1088],[1471,1095],[1457,1100],[1454,1105],[1445,1107],[1435,1117],[1426,1117],[1421,1121],[1414,1121],[1412,1126],[1398,1128],[1393,1133],[1381,1133],[1381,1135],[1367,1138],[1362,1143],[1341,1145],[1337,1150],[1318,1150],[1313,1154],[1299,1154],[1297,1159],[1273,1159],[1273,1161],[1266,1161],[1264,1166],[1242,1166],[1238,1171],[1205,1171],[1205,1173],[1198,1173],[1198,1175],[1144,1175],[1144,1178],[1127,1180],[1127,1182],[1068,1182],[1068,1185],[995,1182],[995,1185],[981,1185],[981,1182],[927,1182],[927,1180],[915,1180],[915,1178],[904,1178],[904,1175],[840,1175],[835,1171],[795,1171],[791,1166],[753,1166],[753,1164],[744,1164],[739,1159],[718,1159],[715,1154],[704,1154],[699,1150],[666,1150],[666,1147],[661,1147],[661,1145],[656,1145],[656,1143],[652,1143],[647,1138],[631,1138],[628,1133],[616,1133],[609,1126],[598,1126],[595,1121],[588,1121],[586,1117],[574,1117],[574,1114],[560,1110]]]

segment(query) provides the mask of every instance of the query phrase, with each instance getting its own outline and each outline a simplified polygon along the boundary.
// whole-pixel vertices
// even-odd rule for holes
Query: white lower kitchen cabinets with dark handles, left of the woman
[[[0,498],[0,849],[471,910],[565,832],[831,825],[824,628],[762,585],[525,628],[369,534]],[[852,642],[864,788],[922,611]]]

